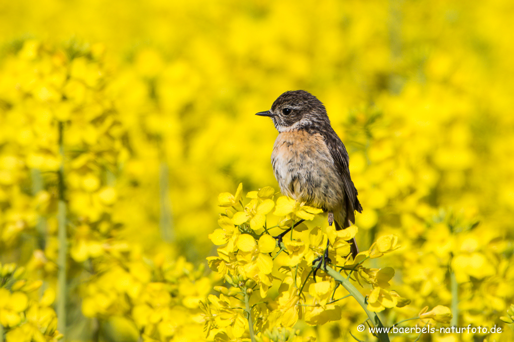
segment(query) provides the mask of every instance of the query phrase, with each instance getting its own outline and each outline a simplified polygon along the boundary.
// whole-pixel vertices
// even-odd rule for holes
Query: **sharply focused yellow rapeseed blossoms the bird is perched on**
[[[221,228],[209,235],[219,246],[217,256],[208,257],[209,267],[228,288],[215,287],[219,296],[210,295],[202,305],[208,337],[265,338],[273,329],[293,328],[299,319],[312,326],[340,320],[347,305],[341,301],[347,297],[345,287],[353,287],[348,279],[368,293],[369,312],[410,303],[390,289],[392,268],[363,266],[368,259],[398,249],[396,236],[381,236],[354,260],[347,240],[357,233],[356,226],[341,231],[326,225],[308,229],[303,222],[322,210],[288,197],[276,198],[271,187],[248,192],[246,200],[242,190],[240,184],[234,195],[219,195],[224,209],[218,219]],[[279,231],[283,232],[272,235]],[[326,259],[326,249],[332,261]],[[332,275],[324,263],[340,272]]]

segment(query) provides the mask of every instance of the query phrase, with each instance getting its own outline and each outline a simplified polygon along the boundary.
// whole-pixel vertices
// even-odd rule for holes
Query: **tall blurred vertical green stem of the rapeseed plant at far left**
[[[57,207],[58,220],[58,239],[59,239],[59,255],[58,255],[58,291],[59,301],[57,303],[58,330],[66,336],[66,256],[67,256],[67,238],[66,238],[66,203],[64,202],[64,144],[63,144],[63,123],[59,122],[59,154],[61,155],[61,167],[59,169],[59,203]],[[66,337],[64,337],[66,338]]]

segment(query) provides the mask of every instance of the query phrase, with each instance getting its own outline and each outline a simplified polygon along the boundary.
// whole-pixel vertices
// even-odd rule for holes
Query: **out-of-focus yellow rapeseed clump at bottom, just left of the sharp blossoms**
[[[170,263],[158,255],[147,263],[140,254],[128,253],[84,287],[82,313],[103,319],[129,317],[132,338],[201,339],[195,317],[200,299],[212,289],[202,274],[183,257]]]

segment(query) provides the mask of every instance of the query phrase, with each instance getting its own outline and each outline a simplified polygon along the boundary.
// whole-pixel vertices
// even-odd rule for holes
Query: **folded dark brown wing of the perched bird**
[[[348,168],[348,153],[346,152],[346,148],[344,147],[343,142],[341,142],[341,139],[336,134],[336,132],[334,132],[332,127],[320,133],[323,134],[325,144],[328,146],[328,150],[330,151],[336,168],[341,175],[341,179],[343,180],[344,190],[346,192],[346,218],[350,220],[352,224],[354,224],[355,210],[357,210],[359,213],[362,212],[362,206],[357,199],[357,189],[355,188],[352,182],[352,178],[350,177],[350,169]],[[350,227],[350,223],[348,222],[341,224],[343,225],[343,229]]]

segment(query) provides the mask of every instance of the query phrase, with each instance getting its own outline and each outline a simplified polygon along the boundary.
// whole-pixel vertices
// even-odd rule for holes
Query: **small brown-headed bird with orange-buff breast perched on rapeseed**
[[[270,110],[255,115],[271,117],[279,131],[271,164],[282,193],[323,209],[336,230],[354,224],[355,210],[362,212],[362,206],[350,177],[348,153],[321,101],[304,90],[286,91]],[[355,237],[349,242],[355,258]]]

